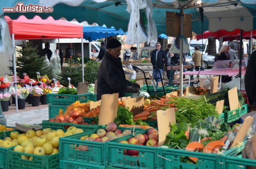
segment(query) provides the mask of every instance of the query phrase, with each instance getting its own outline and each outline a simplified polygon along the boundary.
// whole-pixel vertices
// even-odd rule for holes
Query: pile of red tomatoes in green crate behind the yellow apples
[[[50,122],[67,122],[67,123],[74,123],[74,124],[84,124],[84,125],[90,125],[89,123],[84,121],[84,118],[80,117],[78,115],[57,115],[55,118],[52,118],[49,120]],[[65,126],[67,129],[69,126]]]

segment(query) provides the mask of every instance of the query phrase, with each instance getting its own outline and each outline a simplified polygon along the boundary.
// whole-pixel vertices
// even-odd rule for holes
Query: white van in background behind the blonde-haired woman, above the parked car
[[[208,55],[208,39],[191,39],[188,43],[190,47],[199,46],[199,50],[203,53],[203,55]],[[216,39],[216,53],[219,52],[219,40]]]

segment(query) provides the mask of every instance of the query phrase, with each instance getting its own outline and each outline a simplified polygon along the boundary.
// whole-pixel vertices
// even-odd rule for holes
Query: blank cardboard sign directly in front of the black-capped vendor
[[[118,95],[118,93],[102,94],[98,125],[106,125],[114,121],[117,116]]]

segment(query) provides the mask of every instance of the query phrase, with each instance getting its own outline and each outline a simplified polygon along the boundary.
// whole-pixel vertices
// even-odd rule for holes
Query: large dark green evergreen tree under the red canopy
[[[31,42],[27,44],[23,43],[23,47],[17,50],[20,53],[16,57],[16,73],[17,76],[23,78],[23,73],[27,73],[30,78],[37,79],[37,73],[39,72],[41,76],[47,75],[51,78],[49,67],[47,67],[46,62],[44,62],[45,57],[41,57],[37,54],[37,47],[32,47]],[[13,66],[9,67],[13,70]]]

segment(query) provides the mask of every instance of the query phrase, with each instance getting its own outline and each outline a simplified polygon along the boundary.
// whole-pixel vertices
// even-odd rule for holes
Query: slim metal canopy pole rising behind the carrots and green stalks
[[[180,96],[183,94],[183,10],[180,10],[181,34],[180,34]]]

